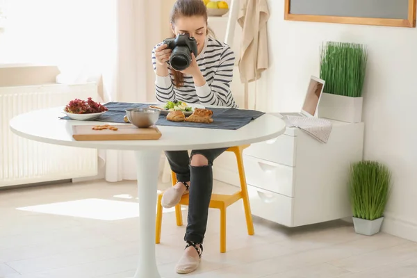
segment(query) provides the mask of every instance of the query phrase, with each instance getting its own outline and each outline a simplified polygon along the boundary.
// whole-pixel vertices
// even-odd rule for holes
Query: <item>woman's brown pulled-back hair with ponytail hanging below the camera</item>
[[[193,16],[202,16],[204,20],[207,22],[207,8],[204,5],[204,1],[202,0],[177,0],[174,3],[174,7],[171,10],[170,22],[174,24],[175,21],[179,17],[193,17]],[[207,33],[213,38],[215,35],[211,28],[207,26]],[[173,35],[175,37],[175,34]],[[197,56],[197,55],[196,55]],[[174,85],[175,87],[179,88],[184,85],[184,75],[182,72],[177,72],[176,70],[172,70],[172,75],[174,75]]]

